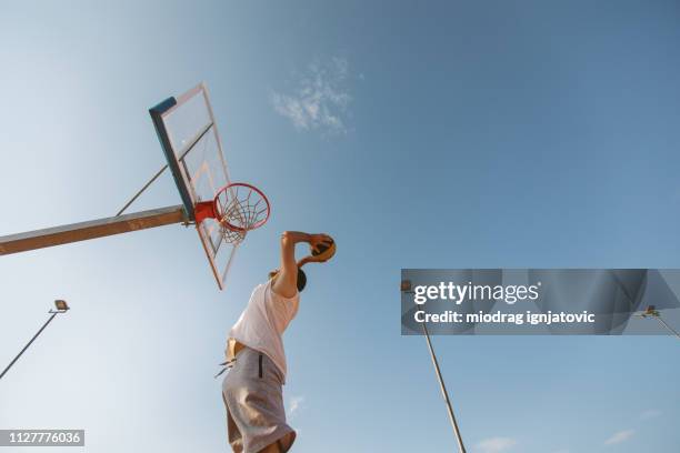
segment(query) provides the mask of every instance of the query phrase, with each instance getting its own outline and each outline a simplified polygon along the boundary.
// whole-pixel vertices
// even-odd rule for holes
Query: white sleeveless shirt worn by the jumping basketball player
[[[256,286],[248,306],[229,331],[229,338],[260,351],[279,368],[286,382],[286,353],[281,335],[296,318],[300,293],[290,299],[271,290],[271,280]]]

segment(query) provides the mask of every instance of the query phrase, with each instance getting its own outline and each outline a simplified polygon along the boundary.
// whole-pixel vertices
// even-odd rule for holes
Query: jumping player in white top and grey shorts
[[[311,254],[296,262],[296,244],[309,243]],[[296,432],[286,423],[282,386],[286,354],[281,335],[298,313],[307,276],[300,269],[334,253],[328,234],[287,231],[281,235],[281,268],[259,284],[229,332],[222,382],[229,444],[234,453],[286,453]]]

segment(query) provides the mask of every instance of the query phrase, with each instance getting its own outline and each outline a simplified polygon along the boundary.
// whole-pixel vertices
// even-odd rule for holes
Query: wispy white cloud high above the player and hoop
[[[296,129],[347,132],[346,119],[352,98],[347,88],[349,63],[342,58],[311,63],[292,93],[272,92],[274,110]]]

